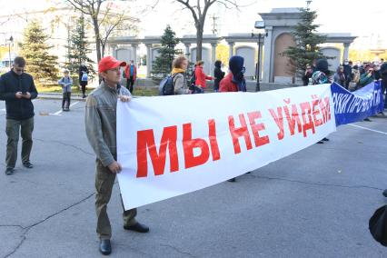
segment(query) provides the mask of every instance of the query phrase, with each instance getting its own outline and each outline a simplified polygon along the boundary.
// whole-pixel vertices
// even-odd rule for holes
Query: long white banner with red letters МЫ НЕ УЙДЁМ
[[[221,183],[336,130],[330,84],[117,104],[125,209]]]

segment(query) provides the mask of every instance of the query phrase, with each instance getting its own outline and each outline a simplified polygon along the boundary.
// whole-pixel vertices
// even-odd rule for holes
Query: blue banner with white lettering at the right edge
[[[379,114],[384,109],[381,82],[373,82],[361,89],[349,92],[341,85],[331,84],[336,126],[362,121]]]

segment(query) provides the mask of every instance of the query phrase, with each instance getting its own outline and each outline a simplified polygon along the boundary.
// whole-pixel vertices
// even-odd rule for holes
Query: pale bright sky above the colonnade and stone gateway
[[[137,7],[154,0],[138,0]],[[12,5],[8,0],[0,0],[0,15],[17,11],[42,10],[54,1],[48,0],[13,0]],[[177,35],[194,34],[193,18],[187,10],[182,11],[179,3],[172,0],[160,0],[154,11],[148,12],[140,24],[140,36],[162,35],[164,28],[170,24]],[[205,34],[212,34],[213,20],[210,15],[217,18],[216,24],[220,35],[229,33],[251,33],[255,20],[260,19],[258,13],[270,12],[272,8],[279,7],[304,7],[303,0],[238,0],[240,4],[251,4],[241,10],[227,10],[223,5],[214,4],[209,10],[206,19]],[[321,32],[351,33],[357,36],[376,38],[379,34],[383,40],[382,45],[387,47],[387,33],[383,27],[387,17],[385,0],[370,0],[356,2],[353,0],[313,0],[311,8],[317,10],[316,23],[321,25]],[[135,12],[132,14],[135,15]],[[3,29],[4,30],[4,29]],[[1,35],[0,35],[1,36]]]

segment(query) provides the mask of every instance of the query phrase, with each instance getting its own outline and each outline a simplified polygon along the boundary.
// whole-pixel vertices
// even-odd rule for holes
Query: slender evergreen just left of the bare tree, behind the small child
[[[74,84],[76,84],[79,80],[79,66],[82,61],[84,61],[87,69],[89,70],[90,79],[94,78],[94,61],[90,59],[87,55],[92,52],[90,49],[90,44],[86,40],[86,35],[84,32],[84,17],[81,16],[77,22],[73,31],[70,33],[70,38],[68,45],[65,46],[67,48],[66,54],[66,68],[70,71],[72,77],[74,77]]]

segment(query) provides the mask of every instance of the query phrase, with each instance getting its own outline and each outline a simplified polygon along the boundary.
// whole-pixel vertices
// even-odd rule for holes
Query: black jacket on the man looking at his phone
[[[29,92],[30,99],[16,98],[17,92]],[[0,77],[0,100],[5,100],[6,118],[24,120],[34,116],[34,104],[31,100],[37,97],[34,79],[30,74],[15,74],[9,71]]]

